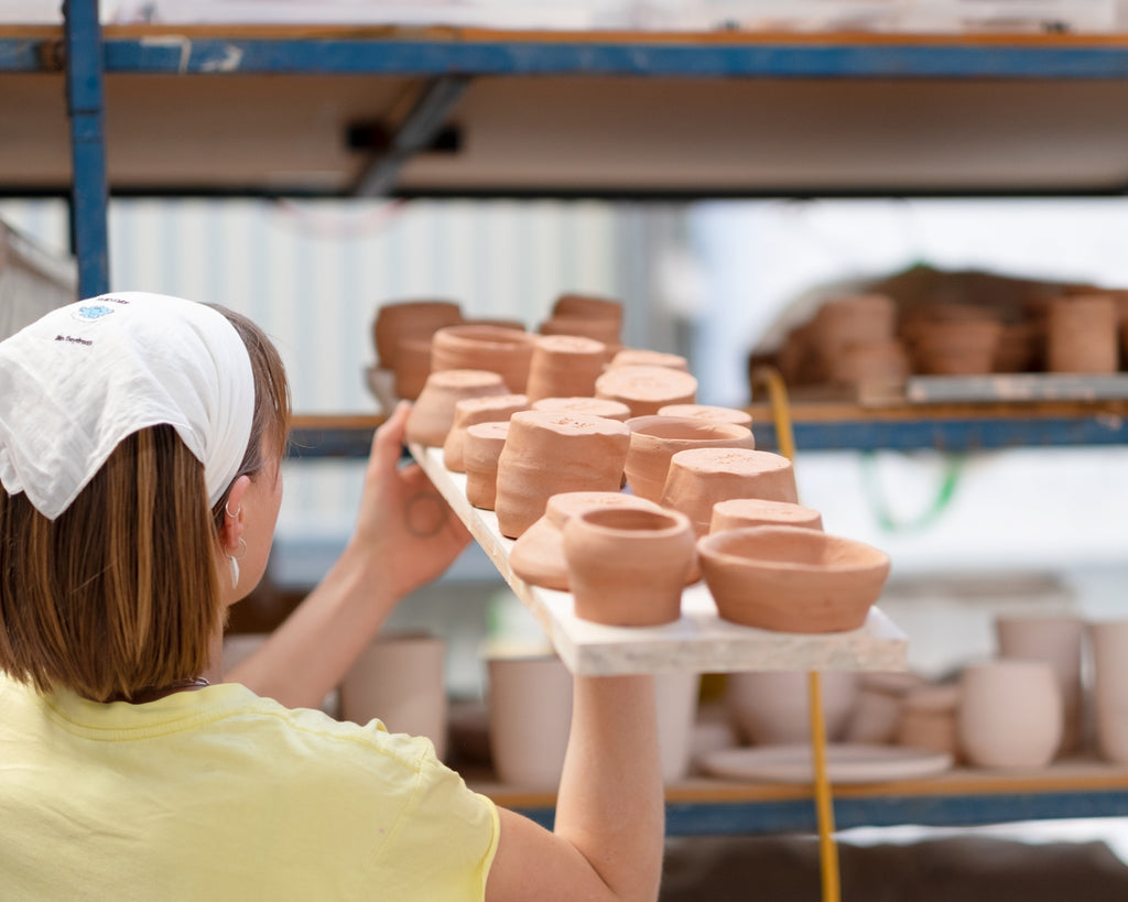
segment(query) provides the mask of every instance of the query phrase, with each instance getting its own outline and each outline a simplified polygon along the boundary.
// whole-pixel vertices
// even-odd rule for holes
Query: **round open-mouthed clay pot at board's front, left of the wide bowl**
[[[694,533],[677,511],[587,507],[564,524],[575,616],[617,627],[670,624],[694,565]]]

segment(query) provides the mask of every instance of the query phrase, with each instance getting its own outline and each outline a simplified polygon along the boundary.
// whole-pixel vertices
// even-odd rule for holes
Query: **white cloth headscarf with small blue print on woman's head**
[[[123,439],[167,423],[214,505],[254,406],[247,348],[218,310],[147,292],[68,304],[0,342],[0,483],[54,520]]]

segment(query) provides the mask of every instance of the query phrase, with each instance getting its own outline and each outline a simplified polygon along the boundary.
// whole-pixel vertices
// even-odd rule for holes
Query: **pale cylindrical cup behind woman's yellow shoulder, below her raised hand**
[[[426,736],[447,753],[446,643],[424,633],[388,634],[361,652],[341,681],[341,716],[379,719],[391,733]]]

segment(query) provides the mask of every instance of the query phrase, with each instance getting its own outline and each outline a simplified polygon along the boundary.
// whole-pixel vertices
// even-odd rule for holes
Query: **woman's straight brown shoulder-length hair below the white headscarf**
[[[220,309],[252,361],[255,413],[239,474],[281,457],[290,393],[277,351]],[[140,430],[55,521],[0,488],[0,669],[41,691],[106,701],[196,676],[223,610],[215,573],[221,498],[169,425]],[[217,513],[219,519],[217,519]]]

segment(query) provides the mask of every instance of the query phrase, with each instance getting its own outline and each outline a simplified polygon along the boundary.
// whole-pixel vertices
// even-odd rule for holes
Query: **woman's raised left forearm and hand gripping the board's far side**
[[[399,466],[411,405],[376,431],[356,528],[320,584],[227,679],[289,707],[314,707],[408,592],[431,582],[469,533],[415,465]]]

